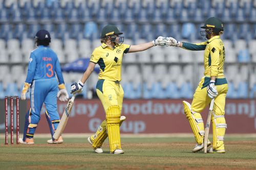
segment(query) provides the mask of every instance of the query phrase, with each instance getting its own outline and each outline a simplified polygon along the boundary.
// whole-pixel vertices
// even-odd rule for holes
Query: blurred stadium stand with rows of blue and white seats
[[[77,58],[89,58],[94,48],[100,45],[100,31],[108,23],[118,26],[124,33],[126,44],[152,41],[158,36],[202,42],[200,26],[210,16],[217,16],[224,22],[222,39],[226,52],[228,98],[256,98],[256,1],[1,2],[0,98],[10,91],[20,93],[25,80],[23,75],[27,72],[24,68],[27,68],[30,52],[35,48],[33,37],[39,29],[51,33],[50,45],[60,63],[66,64]],[[192,98],[203,76],[202,64],[203,51],[184,51],[175,47],[154,47],[145,52],[125,54],[122,66],[124,96],[127,99]],[[14,72],[18,74],[11,79]],[[2,75],[7,75],[6,79]],[[64,77],[67,88],[77,81],[71,79],[70,74],[65,73]],[[97,75],[93,77],[96,79]],[[90,79],[87,90],[81,94],[83,98],[90,98],[88,92],[95,86],[91,82],[95,80]]]

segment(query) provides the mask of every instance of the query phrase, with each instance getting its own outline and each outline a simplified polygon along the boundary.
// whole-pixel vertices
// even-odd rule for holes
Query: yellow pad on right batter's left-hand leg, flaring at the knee
[[[191,105],[183,101],[184,113],[188,119],[188,122],[193,130],[194,136],[198,144],[203,143],[204,136],[204,122],[200,113],[191,110]]]

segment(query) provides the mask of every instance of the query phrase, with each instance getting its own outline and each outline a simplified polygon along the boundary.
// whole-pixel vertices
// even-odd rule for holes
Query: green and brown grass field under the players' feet
[[[192,153],[192,134],[122,135],[122,155],[109,154],[108,141],[94,153],[88,135],[64,134],[63,144],[35,135],[33,145],[4,145],[0,135],[0,169],[256,169],[256,134],[226,135],[225,154]]]

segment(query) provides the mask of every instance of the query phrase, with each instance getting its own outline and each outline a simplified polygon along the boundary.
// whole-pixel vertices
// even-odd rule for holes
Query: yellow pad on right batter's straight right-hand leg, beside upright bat
[[[212,134],[213,134],[213,149],[225,150],[224,148],[224,135],[226,132],[227,124],[224,115],[215,115],[212,113]]]

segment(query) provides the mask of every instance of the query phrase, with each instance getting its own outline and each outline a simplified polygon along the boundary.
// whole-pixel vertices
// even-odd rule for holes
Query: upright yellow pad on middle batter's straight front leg
[[[121,149],[120,139],[120,109],[119,106],[110,106],[106,110],[106,128],[108,129],[110,152]]]

